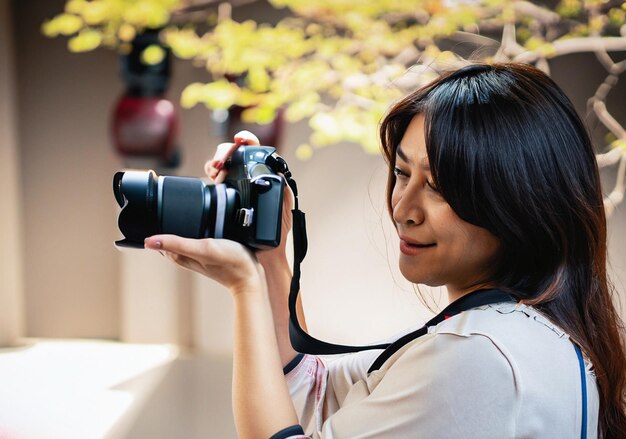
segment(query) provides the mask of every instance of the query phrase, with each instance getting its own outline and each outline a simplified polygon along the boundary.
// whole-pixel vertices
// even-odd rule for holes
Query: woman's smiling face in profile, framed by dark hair
[[[396,152],[391,206],[400,237],[400,271],[409,281],[445,285],[450,300],[490,286],[498,239],[463,221],[434,187],[424,116],[409,124]]]

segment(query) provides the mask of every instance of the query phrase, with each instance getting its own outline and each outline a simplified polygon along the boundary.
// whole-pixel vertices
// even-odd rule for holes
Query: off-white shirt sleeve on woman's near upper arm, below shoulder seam
[[[515,437],[513,367],[488,337],[428,334],[399,355],[304,431],[324,439]]]

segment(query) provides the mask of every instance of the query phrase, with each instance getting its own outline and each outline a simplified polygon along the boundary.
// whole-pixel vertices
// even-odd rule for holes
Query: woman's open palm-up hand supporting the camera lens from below
[[[254,255],[238,242],[155,235],[146,238],[144,245],[161,251],[181,267],[216,280],[233,296],[242,292],[264,291],[263,269]]]

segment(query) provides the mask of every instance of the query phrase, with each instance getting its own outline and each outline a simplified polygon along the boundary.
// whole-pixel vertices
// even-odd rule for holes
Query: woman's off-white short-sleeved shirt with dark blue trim
[[[574,346],[534,308],[474,308],[429,329],[379,370],[381,353],[307,355],[286,378],[313,438],[580,438],[582,390]],[[587,437],[598,392],[586,364]]]

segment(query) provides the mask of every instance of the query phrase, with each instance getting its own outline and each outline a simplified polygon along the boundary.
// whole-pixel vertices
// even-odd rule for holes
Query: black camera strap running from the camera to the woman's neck
[[[328,355],[359,352],[370,349],[384,349],[383,353],[370,367],[368,371],[369,373],[379,369],[382,364],[402,346],[406,345],[411,340],[426,334],[428,332],[428,327],[435,326],[448,317],[478,306],[515,301],[513,296],[497,289],[478,290],[455,300],[443,311],[430,319],[423,327],[401,337],[393,343],[366,346],[346,346],[318,340],[304,331],[298,321],[296,303],[298,300],[298,294],[300,293],[300,264],[306,256],[308,241],[306,236],[306,221],[304,212],[302,212],[298,207],[298,187],[293,178],[291,178],[291,173],[287,172],[284,175],[287,184],[289,184],[289,187],[293,191],[295,197],[294,209],[292,210],[294,261],[293,277],[291,278],[291,290],[289,292],[289,339],[291,340],[291,345],[297,352],[313,355]]]

